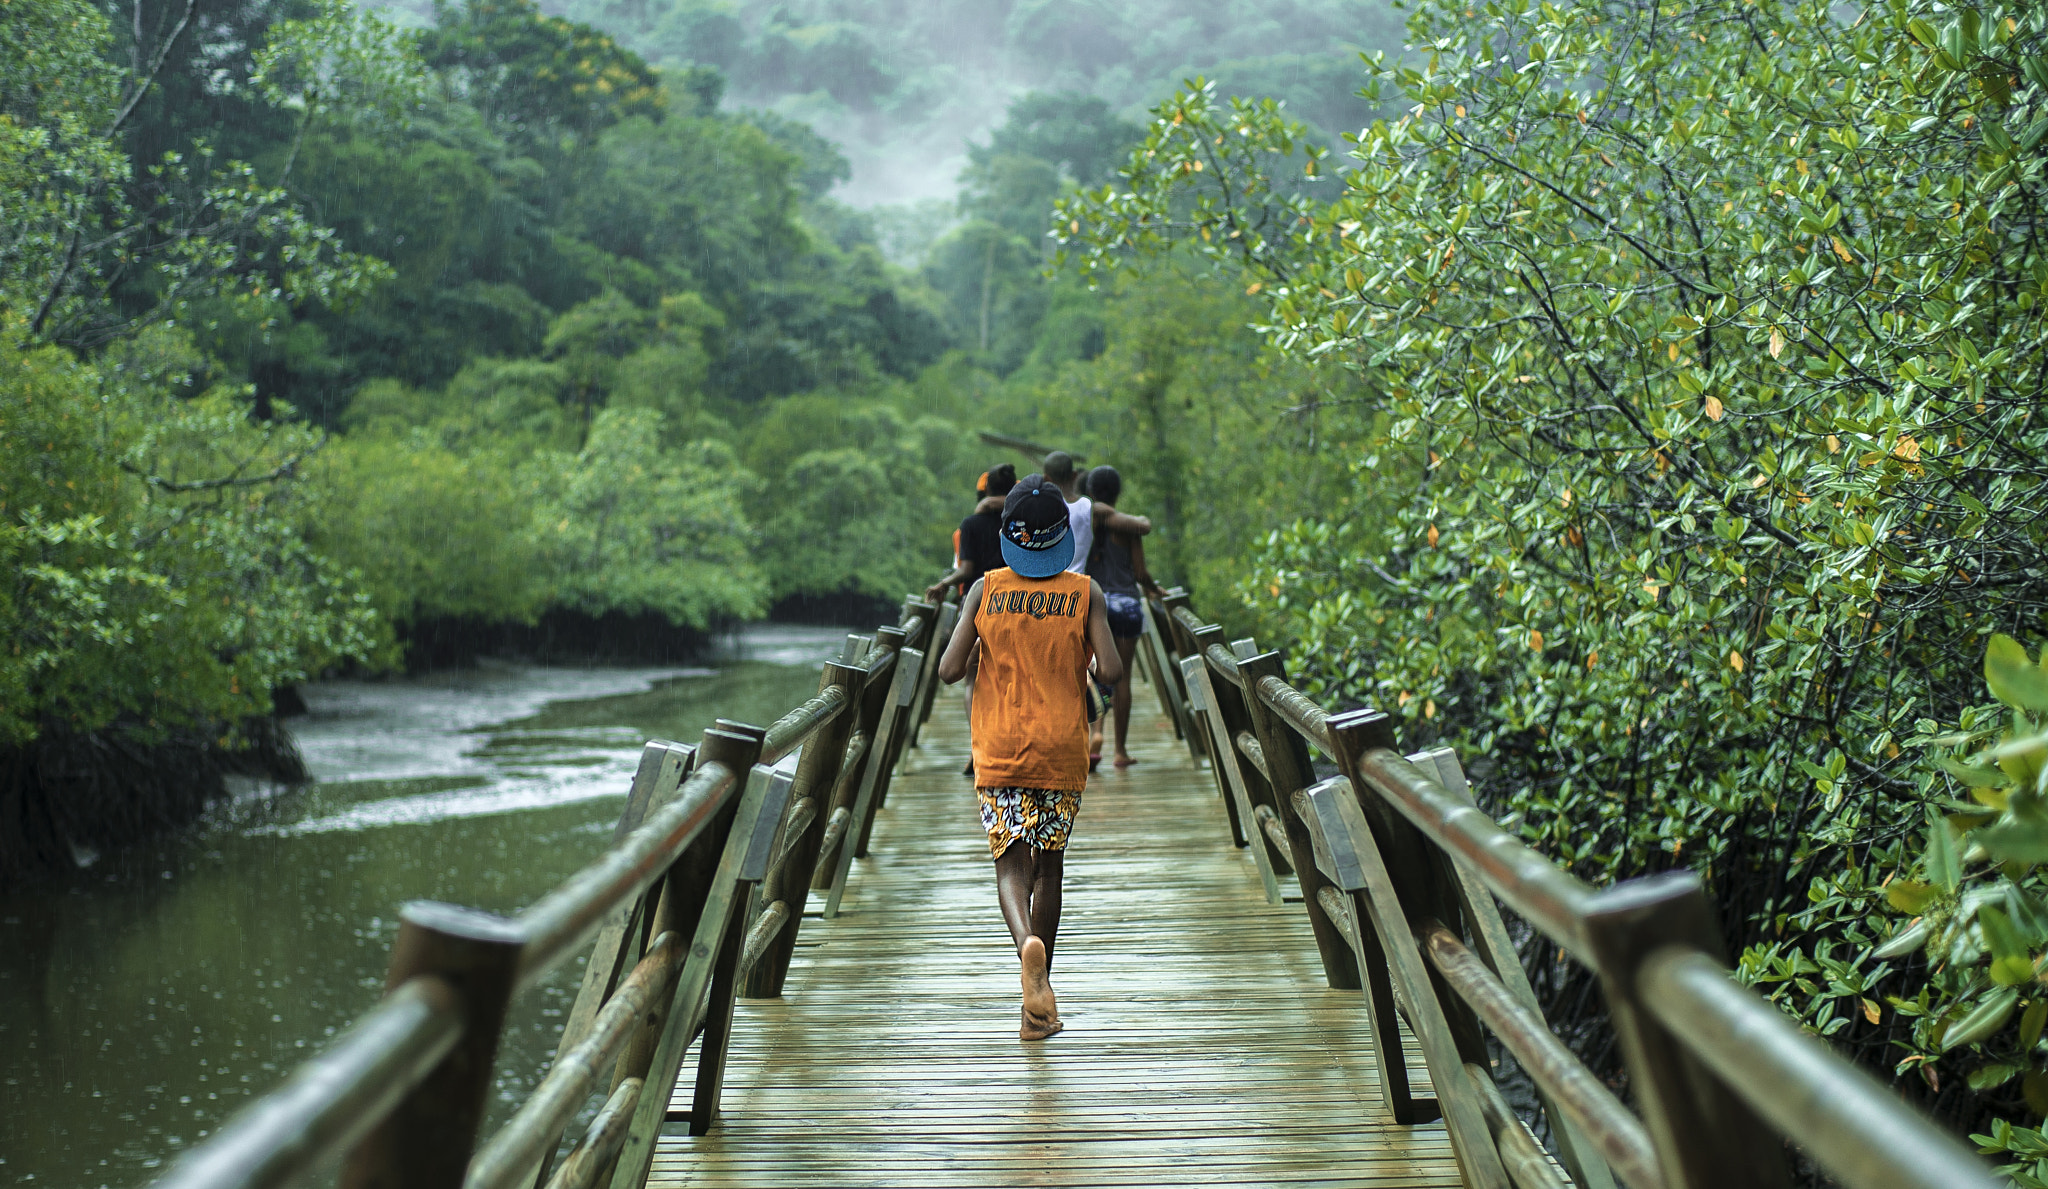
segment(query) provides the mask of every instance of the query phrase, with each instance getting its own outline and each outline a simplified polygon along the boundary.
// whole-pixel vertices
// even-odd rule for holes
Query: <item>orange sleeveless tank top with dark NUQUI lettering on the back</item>
[[[1087,575],[981,577],[975,786],[1087,788]]]

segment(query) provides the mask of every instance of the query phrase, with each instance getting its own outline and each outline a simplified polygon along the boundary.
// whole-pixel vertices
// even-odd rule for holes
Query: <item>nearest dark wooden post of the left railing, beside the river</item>
[[[483,1124],[520,941],[516,925],[477,909],[414,900],[399,911],[385,995],[420,974],[446,980],[463,1003],[463,1036],[348,1154],[342,1189],[461,1189]]]

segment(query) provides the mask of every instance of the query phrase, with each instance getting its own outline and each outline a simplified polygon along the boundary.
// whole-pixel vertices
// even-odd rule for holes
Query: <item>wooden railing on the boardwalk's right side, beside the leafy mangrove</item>
[[[1386,1111],[1442,1117],[1466,1185],[1776,1189],[1786,1142],[1849,1189],[1999,1183],[1733,980],[1698,876],[1595,890],[1483,814],[1450,749],[1401,755],[1384,714],[1329,714],[1288,686],[1280,653],[1225,643],[1184,591],[1147,610],[1149,667],[1237,843],[1272,902],[1292,878],[1329,984],[1366,993]],[[1335,776],[1315,778],[1311,747]],[[1593,970],[1636,1111],[1550,1031],[1495,900]],[[1434,1097],[1413,1093],[1403,1023]],[[1487,1031],[1534,1081],[1556,1160],[1495,1085]]]

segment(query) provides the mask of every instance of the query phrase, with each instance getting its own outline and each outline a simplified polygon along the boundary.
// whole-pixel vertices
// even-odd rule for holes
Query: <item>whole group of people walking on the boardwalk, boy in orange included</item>
[[[965,585],[938,675],[948,686],[969,681],[969,769],[1018,950],[1024,1040],[1061,1029],[1051,968],[1063,862],[1102,749],[1090,679],[1112,690],[1116,767],[1135,763],[1124,673],[1145,626],[1151,520],[1116,512],[1122,481],[1108,467],[1087,473],[1094,497],[1079,487],[1073,458],[1059,450],[1024,479],[991,469],[961,524],[958,563],[928,591]]]

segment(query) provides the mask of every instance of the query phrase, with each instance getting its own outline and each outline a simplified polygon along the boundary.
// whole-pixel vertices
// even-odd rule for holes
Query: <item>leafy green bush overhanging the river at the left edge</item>
[[[188,387],[152,334],[102,366],[0,364],[0,743],[268,710],[270,690],[365,655],[371,612],[272,508],[319,440]],[[170,372],[170,375],[164,375]]]

